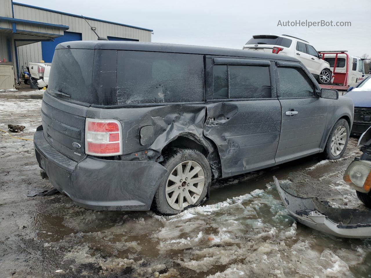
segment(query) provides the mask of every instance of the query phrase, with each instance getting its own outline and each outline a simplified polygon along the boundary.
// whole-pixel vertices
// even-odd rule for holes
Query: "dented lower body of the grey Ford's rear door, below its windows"
[[[208,103],[204,135],[216,144],[223,177],[275,165],[281,129],[278,99]]]

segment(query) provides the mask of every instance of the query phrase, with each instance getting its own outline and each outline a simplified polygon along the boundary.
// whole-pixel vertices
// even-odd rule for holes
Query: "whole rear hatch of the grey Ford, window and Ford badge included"
[[[69,45],[70,46],[70,45]],[[85,119],[92,99],[94,49],[55,50],[43,96],[42,125],[47,142],[75,161],[85,157]]]

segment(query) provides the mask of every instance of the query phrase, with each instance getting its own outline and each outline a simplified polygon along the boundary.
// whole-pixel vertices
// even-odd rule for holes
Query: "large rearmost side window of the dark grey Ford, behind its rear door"
[[[117,52],[117,102],[201,102],[203,55]]]

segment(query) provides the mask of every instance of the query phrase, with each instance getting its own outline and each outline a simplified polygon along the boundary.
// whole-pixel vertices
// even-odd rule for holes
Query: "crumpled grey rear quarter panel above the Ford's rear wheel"
[[[115,119],[122,125],[123,154],[152,149],[158,152],[181,135],[201,139],[206,107],[204,104],[141,106],[115,109],[90,107],[87,118]],[[153,141],[140,144],[139,132],[153,126]]]

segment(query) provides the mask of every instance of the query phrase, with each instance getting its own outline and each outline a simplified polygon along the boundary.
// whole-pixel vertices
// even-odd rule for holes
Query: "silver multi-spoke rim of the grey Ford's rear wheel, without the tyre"
[[[205,174],[193,160],[179,163],[166,182],[166,201],[173,209],[182,210],[200,199],[205,186]]]

